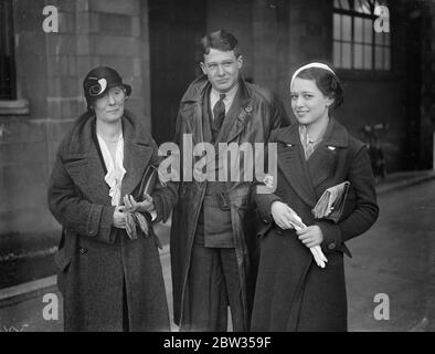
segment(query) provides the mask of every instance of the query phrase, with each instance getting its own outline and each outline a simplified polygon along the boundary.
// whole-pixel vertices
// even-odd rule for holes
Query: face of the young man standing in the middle
[[[223,52],[211,48],[209,54],[204,54],[204,62],[201,63],[201,69],[209,77],[213,88],[225,93],[237,83],[242,64],[242,55],[235,58],[234,51]]]

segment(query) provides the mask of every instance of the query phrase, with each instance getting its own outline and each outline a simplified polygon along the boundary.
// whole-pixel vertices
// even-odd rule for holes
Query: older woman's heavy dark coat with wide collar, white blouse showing
[[[146,238],[138,229],[138,238],[130,240],[112,225],[115,207],[93,138],[95,119],[82,116],[63,139],[49,188],[50,210],[64,229],[55,262],[65,331],[169,331],[153,231]],[[142,124],[127,112],[121,119],[125,196],[135,195],[146,167],[157,164],[158,156]],[[173,190],[157,187],[158,220],[168,218],[176,198]]]

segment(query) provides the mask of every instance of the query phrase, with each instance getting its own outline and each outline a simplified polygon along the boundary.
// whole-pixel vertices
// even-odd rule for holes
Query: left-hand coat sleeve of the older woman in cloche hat
[[[114,243],[117,229],[113,227],[115,207],[92,204],[81,196],[60,154],[56,154],[49,185],[49,208],[54,218],[66,229],[72,229],[105,243]]]

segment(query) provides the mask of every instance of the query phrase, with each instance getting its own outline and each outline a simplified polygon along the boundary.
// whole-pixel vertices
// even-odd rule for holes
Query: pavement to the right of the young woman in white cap
[[[348,242],[350,330],[435,331],[435,180],[383,194],[379,204],[379,221]],[[389,296],[390,320],[375,319],[376,294]]]

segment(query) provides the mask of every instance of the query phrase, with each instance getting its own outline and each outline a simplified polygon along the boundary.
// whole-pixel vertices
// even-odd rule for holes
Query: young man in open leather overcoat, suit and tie
[[[241,77],[243,59],[231,33],[212,32],[202,45],[204,75],[180,103],[176,142],[181,150],[189,135],[193,145],[211,143],[216,152],[222,143],[267,142],[272,129],[288,122],[282,103]],[[258,256],[252,186],[231,179],[179,184],[170,248],[174,321],[181,331],[226,331],[227,306],[234,331],[250,327]]]

